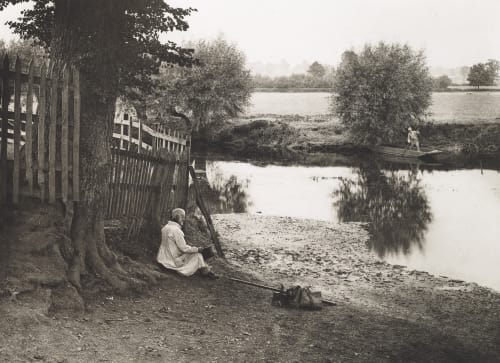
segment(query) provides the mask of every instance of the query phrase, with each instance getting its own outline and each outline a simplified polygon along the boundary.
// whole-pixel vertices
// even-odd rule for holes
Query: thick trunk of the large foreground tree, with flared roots
[[[90,272],[123,290],[133,280],[106,245],[104,210],[119,81],[116,51],[125,10],[121,0],[57,0],[55,4],[51,56],[77,65],[81,81],[81,201],[75,204],[71,225],[75,253],[69,280],[80,287],[81,274]]]

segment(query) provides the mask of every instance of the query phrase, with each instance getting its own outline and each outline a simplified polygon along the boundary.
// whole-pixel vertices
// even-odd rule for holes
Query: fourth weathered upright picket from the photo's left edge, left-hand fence
[[[38,186],[40,199],[45,201],[45,115],[47,103],[47,66],[42,64],[40,70],[40,97],[38,101]],[[74,193],[73,193],[74,194]]]

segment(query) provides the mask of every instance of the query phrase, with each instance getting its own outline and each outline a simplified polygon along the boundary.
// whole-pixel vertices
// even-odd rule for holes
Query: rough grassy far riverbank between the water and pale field
[[[451,162],[470,158],[497,158],[500,150],[500,124],[428,123],[422,126],[421,146],[439,149]],[[212,127],[204,139],[193,141],[195,148],[224,150],[245,158],[276,157],[293,153],[363,153],[349,132],[332,116],[261,115],[245,117]],[[406,133],[399,142],[406,147]]]

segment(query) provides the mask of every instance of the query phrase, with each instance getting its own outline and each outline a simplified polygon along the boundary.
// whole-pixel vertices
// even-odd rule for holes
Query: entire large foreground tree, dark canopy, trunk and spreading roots
[[[0,0],[0,10],[27,0]],[[84,272],[126,289],[134,281],[120,267],[104,236],[104,202],[110,170],[115,101],[121,92],[144,94],[162,62],[186,65],[191,51],[159,36],[186,30],[193,9],[162,0],[36,0],[9,25],[35,39],[52,59],[80,69],[81,201],[71,226],[69,280],[80,286]],[[135,91],[135,92],[134,92]]]

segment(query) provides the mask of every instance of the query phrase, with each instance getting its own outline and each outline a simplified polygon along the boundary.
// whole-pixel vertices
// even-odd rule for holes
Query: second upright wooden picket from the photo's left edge
[[[21,59],[16,57],[14,77],[14,170],[12,175],[12,203],[19,203],[19,175],[21,163]]]

